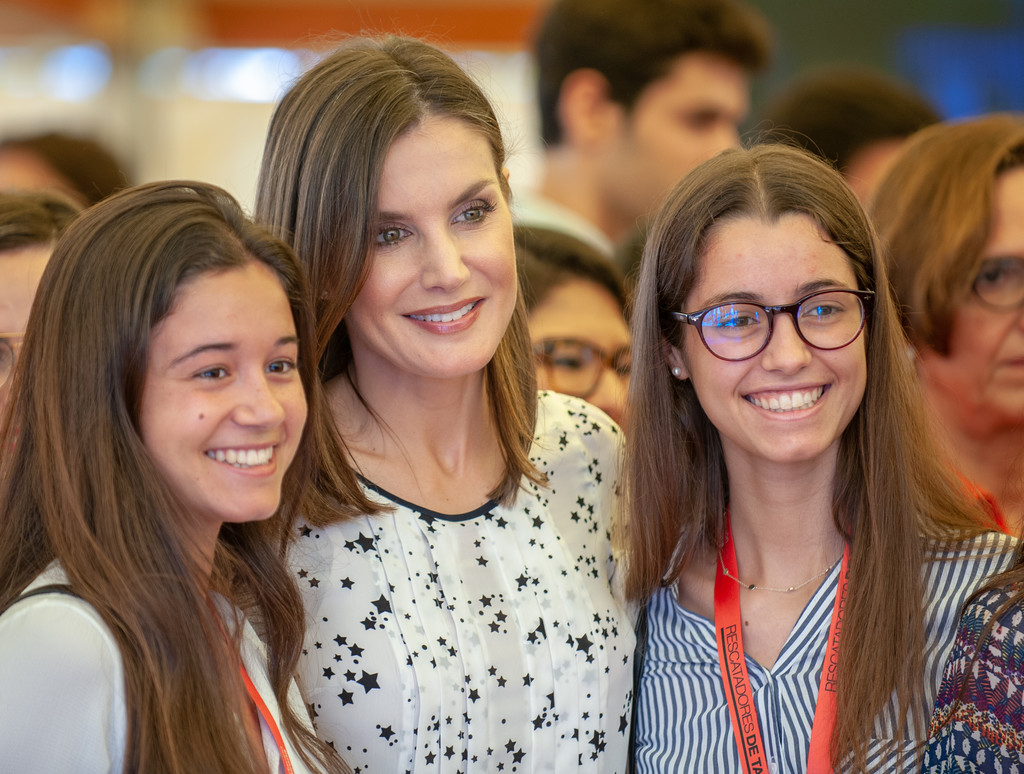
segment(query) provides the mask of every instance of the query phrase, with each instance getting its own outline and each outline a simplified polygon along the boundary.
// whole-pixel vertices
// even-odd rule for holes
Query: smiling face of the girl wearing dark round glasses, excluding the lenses
[[[700,276],[686,299],[692,312],[727,301],[790,304],[819,290],[857,290],[848,256],[808,216],[774,223],[743,217],[710,234]],[[730,475],[737,465],[833,461],[860,405],[867,379],[864,333],[834,350],[816,349],[777,314],[768,345],[755,356],[722,360],[699,332],[683,326],[670,365],[690,379],[718,429]]]

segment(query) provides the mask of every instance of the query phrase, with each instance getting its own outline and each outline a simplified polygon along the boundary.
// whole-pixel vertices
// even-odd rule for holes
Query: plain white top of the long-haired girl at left
[[[26,591],[67,583],[63,570],[53,564]],[[281,726],[263,644],[248,621],[242,662]],[[288,698],[293,712],[305,720],[294,684]],[[68,594],[38,594],[0,615],[0,769],[18,774],[121,774],[126,724],[121,652],[91,605]],[[262,717],[260,730],[270,771],[284,772],[278,744]],[[282,734],[296,774],[309,772],[283,726]]]

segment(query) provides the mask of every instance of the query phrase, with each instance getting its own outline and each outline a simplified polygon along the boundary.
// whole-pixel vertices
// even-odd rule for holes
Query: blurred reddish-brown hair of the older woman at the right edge
[[[992,229],[995,178],[1024,165],[1024,114],[938,124],[911,137],[871,202],[903,324],[946,354]]]

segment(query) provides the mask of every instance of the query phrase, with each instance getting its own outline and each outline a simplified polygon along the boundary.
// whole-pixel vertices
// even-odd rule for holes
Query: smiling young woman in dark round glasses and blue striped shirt
[[[929,447],[855,196],[792,148],[706,162],[633,321],[637,770],[916,771],[956,611],[1012,541]]]

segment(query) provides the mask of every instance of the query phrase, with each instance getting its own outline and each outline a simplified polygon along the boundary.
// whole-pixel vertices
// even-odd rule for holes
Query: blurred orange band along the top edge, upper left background
[[[547,0],[0,0],[0,44],[88,38],[112,50],[317,47],[334,33],[401,31],[454,48],[521,47]],[[336,37],[336,36],[335,36]]]

